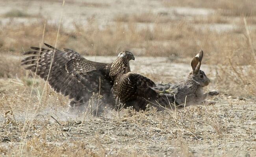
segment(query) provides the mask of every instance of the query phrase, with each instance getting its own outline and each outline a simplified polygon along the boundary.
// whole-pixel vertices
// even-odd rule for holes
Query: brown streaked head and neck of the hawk
[[[130,51],[122,51],[117,56],[117,59],[112,63],[109,76],[115,77],[117,74],[125,74],[131,71],[130,60],[135,60],[134,54]]]

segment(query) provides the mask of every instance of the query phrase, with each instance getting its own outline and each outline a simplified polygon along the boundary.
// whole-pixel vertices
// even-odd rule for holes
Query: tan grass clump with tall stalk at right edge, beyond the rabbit
[[[243,62],[243,55],[240,55],[240,60],[235,60],[232,57],[226,57],[229,65],[221,66],[219,79],[223,79],[223,88],[227,89],[226,92],[230,94],[240,95],[240,97],[255,97],[256,95],[256,55],[254,45],[252,42],[252,33],[250,33],[246,18],[243,18],[247,46],[247,55],[250,57],[246,65],[241,66],[239,62]],[[256,38],[254,37],[254,40]],[[226,84],[226,85],[225,85]],[[228,88],[229,86],[229,88]]]

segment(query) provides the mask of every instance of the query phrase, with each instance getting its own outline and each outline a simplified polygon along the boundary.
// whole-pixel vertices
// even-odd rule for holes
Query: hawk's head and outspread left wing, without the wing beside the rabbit
[[[21,65],[47,80],[56,93],[68,95],[71,107],[84,105],[93,93],[99,92],[103,102],[112,103],[113,71],[125,67],[124,73],[130,72],[129,61],[134,60],[131,52],[122,51],[113,63],[94,62],[71,49],[61,51],[45,45],[50,49],[31,47],[32,51],[24,53],[29,56],[21,61]]]

